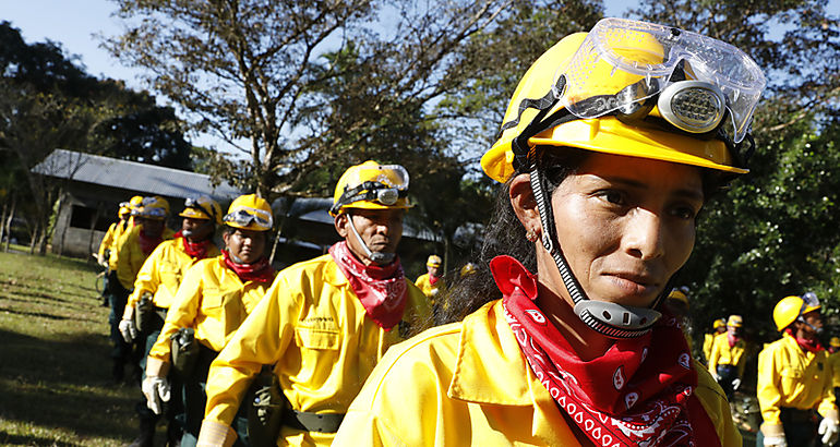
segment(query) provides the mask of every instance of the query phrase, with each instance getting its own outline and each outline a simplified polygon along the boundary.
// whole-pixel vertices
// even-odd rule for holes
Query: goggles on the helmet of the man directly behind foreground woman
[[[399,165],[360,166],[352,177],[347,179],[348,188],[329,212],[337,214],[343,206],[356,202],[394,206],[397,201],[408,195],[408,172]]]

